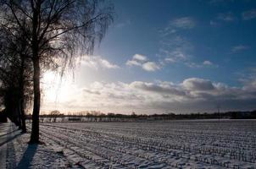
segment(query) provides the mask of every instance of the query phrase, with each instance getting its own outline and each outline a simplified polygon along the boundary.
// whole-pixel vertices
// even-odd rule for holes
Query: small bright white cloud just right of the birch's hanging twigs
[[[120,68],[118,65],[114,63],[109,63],[108,60],[103,59],[103,57],[100,56],[85,56],[81,60],[81,64],[85,65],[89,68]]]

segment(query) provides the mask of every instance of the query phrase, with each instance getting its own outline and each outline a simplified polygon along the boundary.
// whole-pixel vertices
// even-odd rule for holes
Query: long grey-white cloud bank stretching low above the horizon
[[[242,87],[200,78],[184,79],[181,83],[97,81],[85,87],[73,86],[68,91],[69,95],[63,95],[58,103],[66,111],[162,113],[168,110],[180,113],[214,112],[216,106],[222,111],[256,108],[255,79],[248,79]],[[53,106],[53,101],[44,101],[43,105]]]

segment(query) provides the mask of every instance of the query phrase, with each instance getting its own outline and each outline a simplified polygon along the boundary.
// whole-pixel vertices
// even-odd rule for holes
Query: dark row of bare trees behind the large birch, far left
[[[0,38],[1,96],[8,116],[13,116],[25,133],[25,107],[31,101],[32,72],[28,43],[7,25],[0,25]]]

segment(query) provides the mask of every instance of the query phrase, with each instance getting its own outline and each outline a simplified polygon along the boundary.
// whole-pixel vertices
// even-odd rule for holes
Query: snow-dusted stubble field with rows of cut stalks
[[[256,168],[256,121],[42,123],[41,138],[81,168]]]

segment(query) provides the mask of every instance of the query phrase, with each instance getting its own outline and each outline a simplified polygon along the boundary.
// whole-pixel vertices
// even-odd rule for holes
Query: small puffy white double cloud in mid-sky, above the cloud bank
[[[154,72],[158,69],[160,69],[160,66],[158,63],[147,61],[147,57],[140,54],[135,54],[131,60],[128,60],[125,63],[127,66],[138,66],[142,67],[147,72]]]

